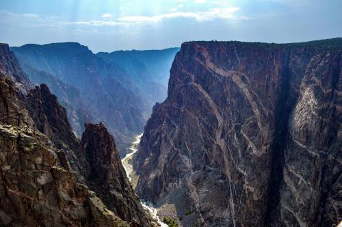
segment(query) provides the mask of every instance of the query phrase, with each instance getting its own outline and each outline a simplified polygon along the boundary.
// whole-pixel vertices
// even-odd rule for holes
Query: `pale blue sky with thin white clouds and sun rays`
[[[342,37],[342,0],[0,0],[0,42],[79,42],[94,53],[190,40]]]

